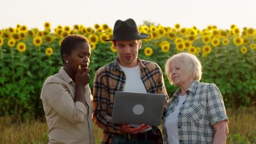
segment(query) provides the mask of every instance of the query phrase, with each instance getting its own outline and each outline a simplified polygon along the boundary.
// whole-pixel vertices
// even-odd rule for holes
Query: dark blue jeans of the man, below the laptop
[[[121,138],[114,136],[111,144],[155,144],[152,140],[129,140],[126,138]]]

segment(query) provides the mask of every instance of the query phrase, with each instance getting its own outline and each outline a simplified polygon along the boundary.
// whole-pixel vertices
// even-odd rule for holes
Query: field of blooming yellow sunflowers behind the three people
[[[64,37],[79,34],[88,37],[91,45],[91,89],[93,76],[99,67],[115,60],[117,51],[111,42],[112,29],[107,24],[57,26],[45,22],[45,29],[28,29],[17,24],[0,30],[0,116],[13,115],[15,119],[44,116],[40,92],[44,80],[62,66],[60,44]],[[154,61],[164,73],[165,61],[175,53],[186,51],[200,59],[203,66],[201,82],[215,83],[226,107],[237,108],[256,103],[256,29],[230,29],[209,25],[173,27],[143,24],[141,33],[149,34],[142,41],[139,58]],[[172,96],[177,87],[165,85]]]

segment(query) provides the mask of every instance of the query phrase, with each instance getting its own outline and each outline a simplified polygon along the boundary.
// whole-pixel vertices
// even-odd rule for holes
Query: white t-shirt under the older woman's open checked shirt
[[[181,108],[182,103],[186,100],[186,96],[187,95],[179,96],[178,104],[174,107],[173,112],[166,117],[165,128],[169,144],[179,144],[177,118],[179,109]]]

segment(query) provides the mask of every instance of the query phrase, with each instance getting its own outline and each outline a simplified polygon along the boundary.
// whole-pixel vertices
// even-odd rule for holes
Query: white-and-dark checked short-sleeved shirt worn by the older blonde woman
[[[178,89],[167,105],[166,117],[178,104]],[[223,98],[215,84],[194,81],[187,90],[187,98],[179,109],[177,117],[178,139],[180,144],[212,144],[213,124],[228,120]],[[164,120],[164,124],[165,124]],[[163,126],[164,144],[168,136]]]

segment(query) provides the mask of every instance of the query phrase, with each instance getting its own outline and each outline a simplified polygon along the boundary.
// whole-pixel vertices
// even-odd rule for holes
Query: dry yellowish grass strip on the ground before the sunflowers
[[[256,144],[256,107],[227,109],[229,136],[227,144]],[[27,120],[12,124],[11,117],[0,117],[0,144],[45,144],[48,141],[46,123]],[[101,141],[102,130],[94,125],[96,144]]]

